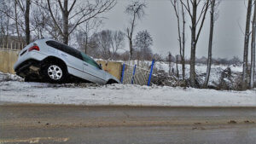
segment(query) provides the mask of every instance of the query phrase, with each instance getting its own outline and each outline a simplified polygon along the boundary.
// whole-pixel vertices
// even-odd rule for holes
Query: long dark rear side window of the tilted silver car
[[[73,55],[74,57],[76,57],[80,60],[83,60],[83,57],[82,57],[79,50],[73,49],[72,47],[70,47],[66,44],[58,43],[58,42],[55,42],[55,41],[47,41],[46,44],[49,45],[50,47],[55,48],[55,49],[59,49],[59,50],[65,52],[69,55]]]

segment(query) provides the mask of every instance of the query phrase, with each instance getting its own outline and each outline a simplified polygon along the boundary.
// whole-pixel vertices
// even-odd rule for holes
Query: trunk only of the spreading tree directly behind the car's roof
[[[68,0],[64,0],[64,5],[63,5],[63,10],[62,10],[62,19],[63,19],[63,36],[62,36],[62,40],[63,43],[68,44],[68,9],[67,9],[67,5],[68,5]]]

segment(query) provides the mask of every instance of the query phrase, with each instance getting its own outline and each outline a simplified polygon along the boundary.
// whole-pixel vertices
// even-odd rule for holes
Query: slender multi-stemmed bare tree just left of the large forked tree
[[[179,42],[179,55],[181,57],[181,63],[182,63],[182,70],[183,70],[183,80],[185,79],[185,9],[183,8],[183,4],[180,4],[181,0],[171,0],[172,7],[175,11],[176,17],[177,17],[177,34],[178,34],[178,42]],[[180,8],[181,7],[181,8]],[[183,26],[181,31],[181,24],[180,24],[180,14],[179,9],[181,9],[182,13],[182,20],[183,20]]]

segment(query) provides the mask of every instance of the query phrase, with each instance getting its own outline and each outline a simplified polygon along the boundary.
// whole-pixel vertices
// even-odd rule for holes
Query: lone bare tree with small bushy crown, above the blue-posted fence
[[[139,2],[139,1],[135,1],[131,4],[129,4],[126,9],[125,12],[127,14],[131,15],[131,21],[130,21],[130,26],[126,28],[126,32],[127,32],[127,37],[129,40],[129,46],[130,46],[130,60],[132,58],[132,54],[133,54],[133,33],[134,33],[134,29],[136,26],[136,22],[137,20],[141,20],[145,14],[144,9],[146,8],[146,4]]]

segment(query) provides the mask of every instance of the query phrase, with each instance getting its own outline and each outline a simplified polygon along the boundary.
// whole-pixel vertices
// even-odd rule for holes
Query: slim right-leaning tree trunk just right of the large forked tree
[[[204,88],[207,88],[210,73],[211,73],[211,66],[212,66],[212,39],[213,39],[213,28],[214,28],[214,7],[215,7],[215,0],[211,2],[211,21],[210,21],[210,37],[209,37],[209,45],[208,45],[208,59],[207,59],[207,76],[205,79],[205,83],[203,85]]]

